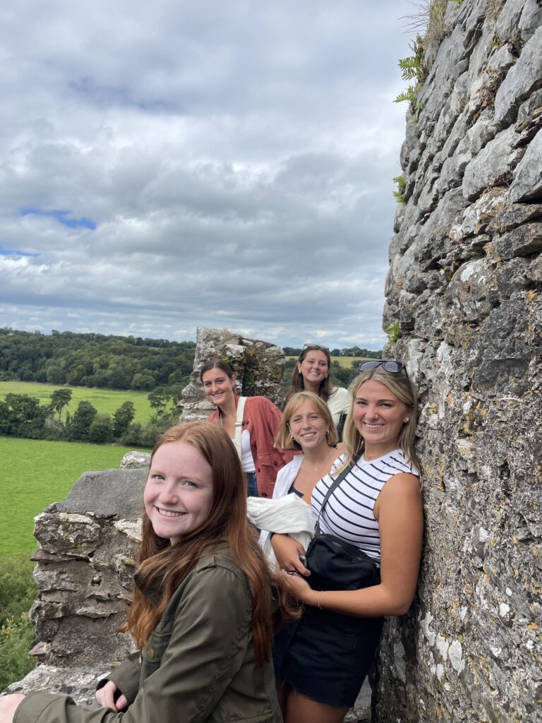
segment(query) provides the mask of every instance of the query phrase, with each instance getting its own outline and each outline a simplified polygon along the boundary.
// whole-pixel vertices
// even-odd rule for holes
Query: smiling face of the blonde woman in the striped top
[[[356,391],[353,420],[367,451],[394,450],[409,416],[410,407],[382,382],[369,379]]]

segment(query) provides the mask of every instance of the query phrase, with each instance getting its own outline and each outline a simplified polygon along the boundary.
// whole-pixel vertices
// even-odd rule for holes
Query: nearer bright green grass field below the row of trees
[[[0,558],[37,547],[34,518],[83,472],[118,468],[129,448],[0,437]]]

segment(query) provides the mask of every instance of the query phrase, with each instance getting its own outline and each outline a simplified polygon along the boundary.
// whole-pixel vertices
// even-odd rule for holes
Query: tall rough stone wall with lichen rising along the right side
[[[542,3],[448,2],[445,25],[384,309],[421,389],[426,537],[373,720],[541,721]]]

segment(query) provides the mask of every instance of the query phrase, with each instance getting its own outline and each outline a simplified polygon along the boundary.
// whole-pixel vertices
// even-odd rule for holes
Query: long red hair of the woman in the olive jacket
[[[284,582],[270,573],[259,547],[256,530],[246,518],[246,478],[228,434],[216,424],[189,422],[172,427],[156,442],[152,456],[162,445],[185,442],[199,450],[212,469],[212,502],[207,519],[196,529],[170,544],[155,534],[143,514],[142,545],[134,576],[134,601],[126,625],[139,649],[147,642],[174,592],[197,565],[217,547],[228,547],[244,572],[252,596],[252,635],[258,664],[270,659],[273,638],[272,583],[280,594],[284,617],[293,617]],[[151,456],[151,465],[152,465]]]

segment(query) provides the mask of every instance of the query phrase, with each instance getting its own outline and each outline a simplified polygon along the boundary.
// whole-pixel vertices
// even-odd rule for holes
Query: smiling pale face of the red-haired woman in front
[[[152,529],[159,537],[178,542],[209,516],[212,468],[188,442],[166,442],[152,456],[143,500]]]

